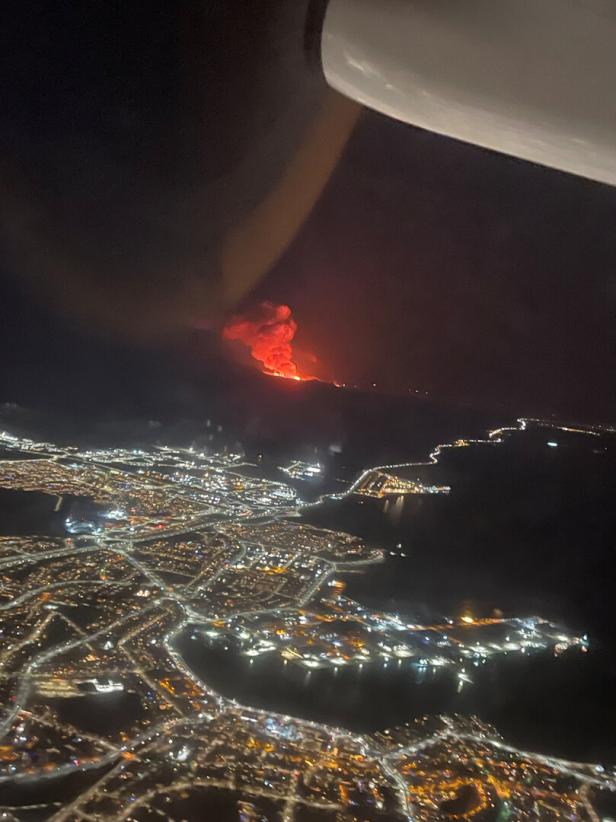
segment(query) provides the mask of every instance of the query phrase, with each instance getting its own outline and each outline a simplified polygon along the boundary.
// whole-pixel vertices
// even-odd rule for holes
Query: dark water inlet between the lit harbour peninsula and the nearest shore
[[[356,731],[424,714],[477,714],[522,748],[614,758],[616,706],[609,694],[616,672],[603,649],[491,661],[471,668],[472,683],[461,683],[446,670],[418,668],[408,660],[306,671],[277,656],[249,659],[209,646],[190,629],[177,647],[205,682],[242,704]]]

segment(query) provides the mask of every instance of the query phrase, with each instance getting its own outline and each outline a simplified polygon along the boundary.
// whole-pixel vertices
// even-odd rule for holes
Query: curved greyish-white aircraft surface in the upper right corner
[[[398,120],[616,185],[616,0],[331,0],[322,60]]]

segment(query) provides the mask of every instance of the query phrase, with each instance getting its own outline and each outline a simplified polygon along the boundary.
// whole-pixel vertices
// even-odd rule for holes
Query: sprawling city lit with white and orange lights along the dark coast
[[[529,427],[559,444],[601,436],[520,420],[421,464]],[[294,489],[239,454],[79,449],[8,432],[0,448],[0,488],[46,494],[56,517],[54,536],[0,537],[0,796],[83,777],[65,801],[37,806],[55,822],[179,819],[188,807],[214,819],[221,802],[231,818],[284,822],[597,819],[614,807],[613,770],[517,750],[477,719],[355,734],[242,705],[179,651],[193,636],[246,660],[443,669],[472,687],[494,658],[584,652],[586,636],[539,617],[419,621],[363,606],[341,577],[386,552],[306,525]],[[330,498],[444,493],[402,476],[416,465],[367,469]],[[2,799],[0,813],[19,809]]]

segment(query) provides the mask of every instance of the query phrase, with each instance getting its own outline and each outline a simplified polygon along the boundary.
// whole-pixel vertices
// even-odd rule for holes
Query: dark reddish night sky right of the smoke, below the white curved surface
[[[264,293],[336,375],[609,417],[615,209],[606,186],[368,114]]]

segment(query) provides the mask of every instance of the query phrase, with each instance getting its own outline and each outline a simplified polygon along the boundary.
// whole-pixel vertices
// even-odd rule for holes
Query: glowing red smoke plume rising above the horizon
[[[288,305],[262,302],[246,314],[231,317],[223,329],[223,337],[247,346],[266,374],[306,379],[299,374],[293,354],[297,323],[292,314]]]

